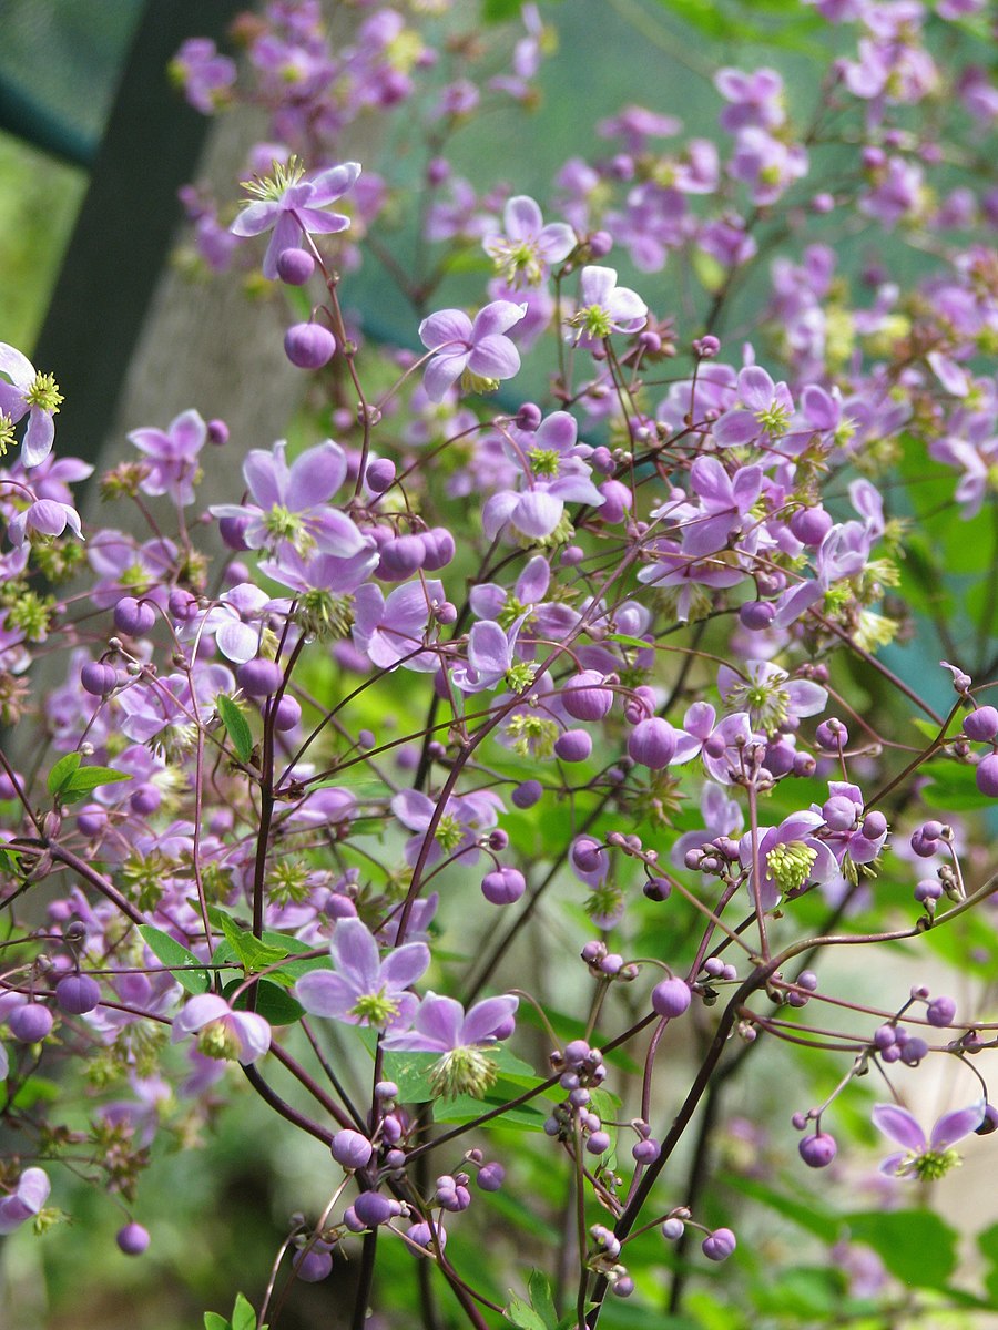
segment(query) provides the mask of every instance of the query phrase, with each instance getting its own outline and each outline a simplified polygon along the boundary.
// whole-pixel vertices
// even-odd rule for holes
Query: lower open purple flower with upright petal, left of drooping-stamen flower
[[[311,970],[294,986],[306,1011],[347,1025],[386,1028],[407,1023],[416,998],[406,990],[430,964],[422,942],[409,942],[379,959],[378,943],[359,919],[341,919],[329,944],[333,972]]]

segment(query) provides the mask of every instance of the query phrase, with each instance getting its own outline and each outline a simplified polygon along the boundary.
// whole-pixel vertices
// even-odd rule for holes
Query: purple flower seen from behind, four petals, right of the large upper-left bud
[[[419,338],[436,352],[423,371],[430,400],[442,402],[458,379],[471,392],[494,392],[502,379],[511,379],[520,368],[520,354],[504,334],[526,313],[526,305],[492,301],[474,323],[463,310],[439,310],[423,319]]]

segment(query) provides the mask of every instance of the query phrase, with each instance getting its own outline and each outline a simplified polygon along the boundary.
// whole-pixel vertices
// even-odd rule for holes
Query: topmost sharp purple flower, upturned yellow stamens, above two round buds
[[[297,247],[302,235],[331,235],[347,229],[349,217],[322,209],[342,198],[359,174],[359,162],[343,162],[305,180],[305,169],[297,158],[274,162],[271,178],[244,182],[244,189],[255,196],[257,202],[244,207],[230,230],[242,237],[273,231],[263,255],[263,277],[274,281],[278,254]]]

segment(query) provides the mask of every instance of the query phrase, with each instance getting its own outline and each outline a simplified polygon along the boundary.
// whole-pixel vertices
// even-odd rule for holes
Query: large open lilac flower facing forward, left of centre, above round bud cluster
[[[338,559],[350,559],[370,548],[346,513],[329,500],[346,479],[343,450],[326,439],[287,466],[287,444],[278,439],[270,452],[254,448],[242,464],[251,504],[220,504],[214,517],[249,519],[244,540],[249,549],[277,549],[290,545],[302,557],[317,549]]]

